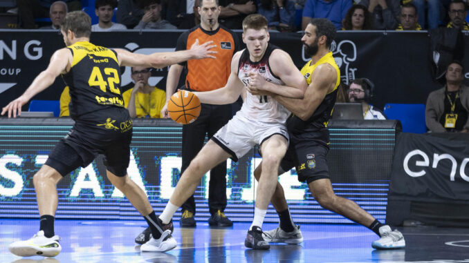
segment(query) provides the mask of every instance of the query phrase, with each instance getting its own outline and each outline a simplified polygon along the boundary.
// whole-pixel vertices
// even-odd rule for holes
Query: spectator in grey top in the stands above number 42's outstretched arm
[[[161,17],[160,0],[141,0],[138,5],[143,8],[145,14],[134,29],[177,29]]]

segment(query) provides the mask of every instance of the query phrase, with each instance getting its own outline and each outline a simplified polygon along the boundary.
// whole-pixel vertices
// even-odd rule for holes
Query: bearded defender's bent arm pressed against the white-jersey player
[[[311,84],[304,92],[304,99],[291,99],[275,95],[274,99],[302,120],[309,119],[326,95],[333,90],[337,72],[330,64],[321,64],[311,75]]]

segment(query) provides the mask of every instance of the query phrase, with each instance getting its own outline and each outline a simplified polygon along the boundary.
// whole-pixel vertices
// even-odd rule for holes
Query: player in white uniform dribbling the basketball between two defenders
[[[246,86],[275,88],[284,97],[302,98],[306,82],[286,52],[268,43],[267,20],[251,14],[243,20],[243,42],[247,49],[237,52],[231,62],[231,74],[225,87],[194,92],[202,103],[230,104]],[[280,87],[280,88],[279,88]],[[263,240],[261,226],[267,206],[277,185],[279,162],[288,148],[285,121],[288,110],[269,96],[246,92],[241,110],[203,146],[179,180],[158,222],[170,228],[172,216],[190,197],[201,177],[228,158],[238,160],[256,144],[263,158],[262,174],[257,186],[255,215],[245,245],[251,249],[269,249]],[[158,221],[159,221],[158,220]]]

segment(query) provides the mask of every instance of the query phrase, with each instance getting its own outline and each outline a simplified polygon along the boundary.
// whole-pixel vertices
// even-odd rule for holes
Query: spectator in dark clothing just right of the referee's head
[[[243,29],[243,19],[256,12],[255,1],[220,0],[220,23],[229,29]]]

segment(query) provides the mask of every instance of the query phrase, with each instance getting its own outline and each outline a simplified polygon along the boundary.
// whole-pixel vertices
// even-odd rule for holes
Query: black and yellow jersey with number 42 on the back
[[[72,52],[73,63],[62,77],[70,88],[70,116],[80,119],[98,110],[124,108],[116,51],[88,41],[67,48]]]

